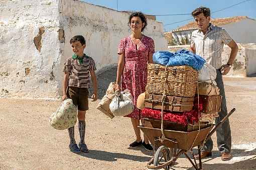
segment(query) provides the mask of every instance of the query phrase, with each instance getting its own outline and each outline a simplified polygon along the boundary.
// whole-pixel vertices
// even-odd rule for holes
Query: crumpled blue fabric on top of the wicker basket
[[[180,49],[175,53],[169,51],[157,51],[155,53],[153,54],[153,62],[161,65],[189,65],[200,70],[205,63],[204,58],[186,49]]]

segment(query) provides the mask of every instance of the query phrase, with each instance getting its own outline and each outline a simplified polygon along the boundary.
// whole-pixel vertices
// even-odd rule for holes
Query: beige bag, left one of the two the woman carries
[[[97,105],[97,109],[106,114],[110,118],[114,118],[113,113],[109,109],[109,104],[112,98],[115,96],[115,82],[110,82],[106,90],[106,94],[102,97],[101,101]]]

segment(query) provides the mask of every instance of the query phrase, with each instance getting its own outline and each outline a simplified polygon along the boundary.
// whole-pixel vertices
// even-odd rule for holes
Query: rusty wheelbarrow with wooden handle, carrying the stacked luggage
[[[147,163],[147,167],[149,169],[164,168],[166,170],[169,170],[169,168],[175,163],[180,155],[184,154],[195,169],[202,169],[201,147],[204,141],[208,140],[210,136],[216,131],[216,129],[234,111],[235,108],[233,108],[218,124],[215,124],[215,127],[213,125],[206,127],[204,126],[201,129],[199,128],[198,130],[193,131],[177,131],[163,129],[163,119],[161,123],[161,128],[153,128],[146,125],[139,125],[138,127],[149,138],[150,142],[154,146],[158,147],[155,156],[152,157]],[[199,167],[192,151],[192,148],[195,146],[198,147]],[[190,150],[192,151],[192,157],[194,162],[188,156],[188,152]]]

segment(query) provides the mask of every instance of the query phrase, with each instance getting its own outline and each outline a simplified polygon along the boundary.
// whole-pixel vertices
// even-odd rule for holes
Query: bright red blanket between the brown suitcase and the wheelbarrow
[[[161,120],[161,110],[144,108],[142,110],[144,117]],[[188,123],[198,122],[198,111],[191,110],[186,112],[164,111],[164,120],[187,125]]]

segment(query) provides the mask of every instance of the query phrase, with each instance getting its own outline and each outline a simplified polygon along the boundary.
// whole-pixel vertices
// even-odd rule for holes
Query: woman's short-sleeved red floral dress
[[[143,118],[141,110],[136,107],[138,96],[145,92],[147,84],[147,66],[149,53],[155,52],[154,40],[142,35],[141,42],[136,45],[131,36],[126,36],[120,41],[118,54],[124,52],[125,64],[121,76],[122,90],[129,89],[134,97],[135,109],[127,115],[135,119]]]

